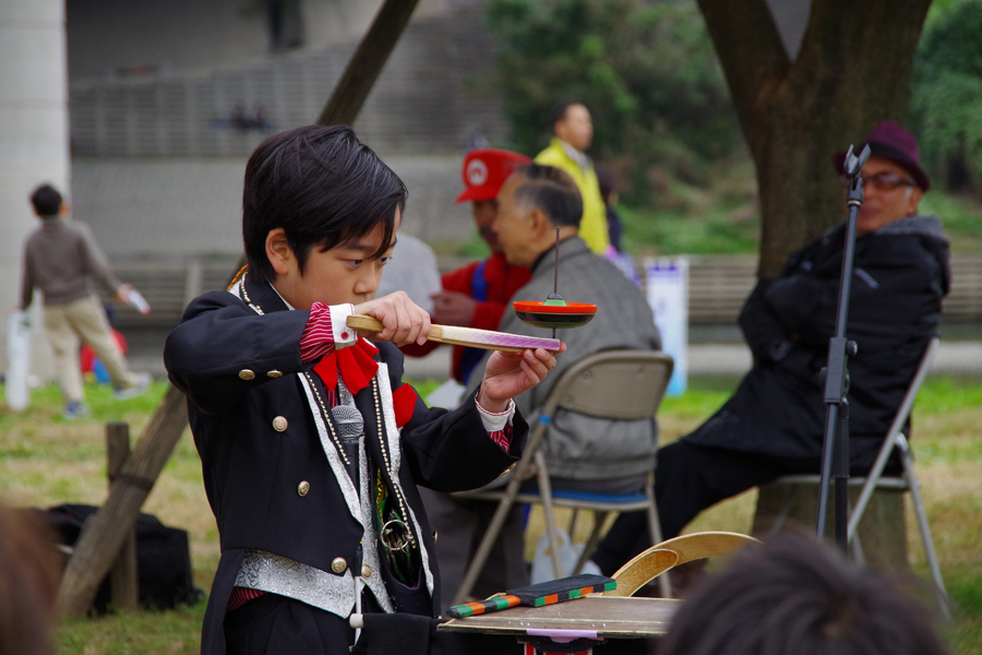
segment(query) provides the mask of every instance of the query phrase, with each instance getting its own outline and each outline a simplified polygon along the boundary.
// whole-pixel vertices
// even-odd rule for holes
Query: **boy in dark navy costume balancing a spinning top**
[[[430,320],[405,294],[373,298],[406,188],[349,128],[263,142],[246,168],[249,265],[188,307],[167,341],[189,398],[221,559],[202,653],[348,653],[352,614],[435,616],[434,535],[416,485],[484,485],[518,461],[511,398],[555,366],[495,353],[459,409],[403,384],[396,346]],[[372,345],[351,313],[384,325]]]

